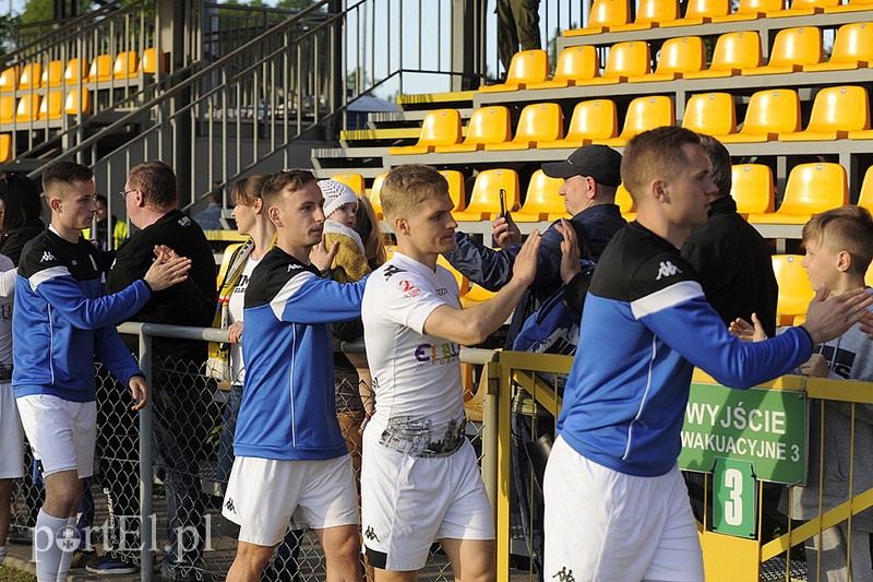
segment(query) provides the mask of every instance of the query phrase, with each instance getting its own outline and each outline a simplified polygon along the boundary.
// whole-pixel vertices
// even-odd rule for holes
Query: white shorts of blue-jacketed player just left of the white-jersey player
[[[301,511],[296,511],[298,508]],[[222,513],[240,526],[240,542],[259,546],[282,542],[292,515],[295,525],[314,530],[357,525],[351,458],[276,461],[237,456]]]

